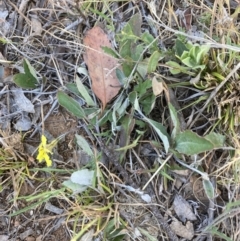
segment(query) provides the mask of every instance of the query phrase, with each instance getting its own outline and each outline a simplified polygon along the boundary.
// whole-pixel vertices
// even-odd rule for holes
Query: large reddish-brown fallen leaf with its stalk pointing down
[[[83,43],[87,47],[84,60],[92,80],[92,90],[101,100],[102,109],[105,109],[106,104],[118,94],[121,88],[116,76],[116,68],[119,68],[118,61],[102,50],[104,46],[111,48],[111,44],[100,27],[90,29]]]

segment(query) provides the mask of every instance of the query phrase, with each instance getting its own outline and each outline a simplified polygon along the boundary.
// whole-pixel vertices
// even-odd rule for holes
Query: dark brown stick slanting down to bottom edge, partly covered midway
[[[123,177],[124,181],[128,185],[134,187],[135,189],[138,189],[139,187],[137,187],[136,183],[134,183],[132,181],[132,179],[129,178],[127,171],[122,167],[121,163],[119,162],[118,155],[114,154],[114,151],[108,149],[108,147],[106,147],[103,144],[103,142],[101,140],[99,140],[98,138],[97,138],[97,141],[98,141],[102,151],[107,156],[109,162],[111,162],[114,165],[114,167],[117,169],[117,171],[119,171],[119,173]],[[167,233],[169,241],[179,241],[176,234],[171,230],[168,223],[164,220],[164,217],[160,213],[159,209],[154,205],[150,206],[149,209],[155,215],[155,217],[158,219],[159,223],[161,224],[162,228]]]

